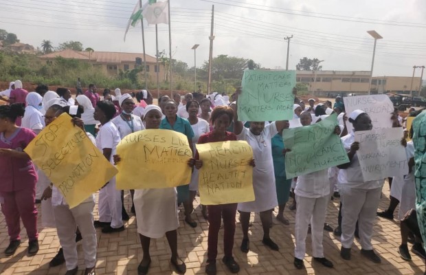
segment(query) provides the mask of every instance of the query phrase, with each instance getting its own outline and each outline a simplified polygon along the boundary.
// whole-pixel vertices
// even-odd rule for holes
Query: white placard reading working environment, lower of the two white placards
[[[408,174],[407,155],[401,145],[403,127],[356,131],[357,157],[364,181]]]

